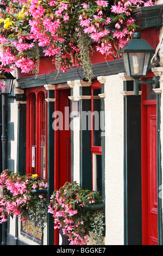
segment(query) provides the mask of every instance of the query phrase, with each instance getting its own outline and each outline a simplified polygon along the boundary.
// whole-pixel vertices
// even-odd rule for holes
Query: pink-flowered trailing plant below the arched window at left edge
[[[8,216],[19,216],[21,221],[30,217],[33,223],[46,222],[47,195],[32,192],[47,188],[47,183],[40,180],[37,174],[21,176],[19,173],[11,174],[8,169],[4,170],[0,175],[0,187],[3,190],[0,198],[0,223],[6,222]]]

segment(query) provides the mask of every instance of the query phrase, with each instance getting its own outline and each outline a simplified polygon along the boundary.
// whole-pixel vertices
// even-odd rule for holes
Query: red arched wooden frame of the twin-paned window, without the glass
[[[32,119],[33,119],[33,100],[32,97],[35,95],[36,99],[36,145],[35,147],[35,169],[32,167]],[[44,101],[42,101],[42,95],[44,95]],[[44,87],[29,88],[27,89],[27,137],[26,137],[26,173],[37,174],[41,176],[41,126],[42,126],[42,109],[45,111],[45,177],[47,179],[47,90]],[[42,108],[43,102],[43,108]]]

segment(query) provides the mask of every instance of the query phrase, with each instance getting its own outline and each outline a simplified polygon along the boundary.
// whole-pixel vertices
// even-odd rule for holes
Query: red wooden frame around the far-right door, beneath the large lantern
[[[146,100],[142,86],[141,97],[141,179],[142,179],[142,245],[148,245],[148,184],[147,184],[147,106],[156,105],[156,100]]]

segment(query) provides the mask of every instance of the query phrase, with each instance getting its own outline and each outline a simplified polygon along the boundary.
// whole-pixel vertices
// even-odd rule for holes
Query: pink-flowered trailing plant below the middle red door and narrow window
[[[90,209],[90,205],[101,203],[102,196],[99,192],[84,190],[76,181],[66,182],[63,187],[54,191],[48,212],[54,217],[54,229],[61,228],[62,233],[68,236],[70,245],[86,245],[90,231],[97,233],[103,229],[103,221],[101,227],[92,224],[95,216],[99,220],[102,215],[99,211]],[[102,233],[100,237],[101,235]],[[97,242],[101,240],[97,239]]]

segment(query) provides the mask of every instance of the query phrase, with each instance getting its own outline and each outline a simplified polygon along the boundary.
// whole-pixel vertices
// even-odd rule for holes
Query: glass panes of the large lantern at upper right
[[[131,69],[131,76],[142,77],[147,75],[148,63],[151,57],[150,52],[130,52],[129,62]]]

